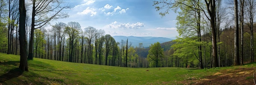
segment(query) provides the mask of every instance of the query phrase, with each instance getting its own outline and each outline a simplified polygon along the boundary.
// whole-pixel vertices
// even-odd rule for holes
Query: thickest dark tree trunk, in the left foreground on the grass
[[[20,66],[19,68],[23,71],[29,71],[27,66],[27,38],[26,38],[26,8],[25,0],[19,0],[19,12],[20,12],[20,30],[19,30],[19,40],[20,40]]]

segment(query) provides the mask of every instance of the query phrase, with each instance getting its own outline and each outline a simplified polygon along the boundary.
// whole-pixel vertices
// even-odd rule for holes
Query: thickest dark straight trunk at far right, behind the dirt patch
[[[239,27],[238,27],[238,1],[234,0],[234,17],[235,17],[235,32],[234,32],[234,66],[240,65],[239,62]]]

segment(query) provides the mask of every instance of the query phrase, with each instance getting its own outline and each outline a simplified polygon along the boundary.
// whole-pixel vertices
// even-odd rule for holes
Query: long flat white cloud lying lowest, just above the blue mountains
[[[113,29],[138,29],[141,27],[144,27],[144,23],[137,22],[137,23],[118,23],[117,21],[114,21],[108,25],[106,25],[106,28],[113,28]]]

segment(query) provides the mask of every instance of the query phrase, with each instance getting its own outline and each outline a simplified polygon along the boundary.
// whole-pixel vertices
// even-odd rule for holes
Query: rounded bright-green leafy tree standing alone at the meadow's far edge
[[[150,50],[148,51],[148,60],[153,61],[156,67],[158,67],[158,62],[160,57],[163,57],[164,49],[162,49],[159,42],[154,43],[154,45],[151,44],[149,49]]]

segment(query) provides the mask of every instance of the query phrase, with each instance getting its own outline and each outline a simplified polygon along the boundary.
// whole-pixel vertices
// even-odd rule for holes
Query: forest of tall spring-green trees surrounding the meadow
[[[169,11],[179,14],[175,40],[154,43],[115,41],[104,30],[79,22],[50,23],[69,17],[65,0],[31,0],[25,17],[25,49],[19,41],[20,12],[16,0],[0,1],[0,52],[49,60],[130,68],[190,67],[216,68],[254,62],[256,26],[255,0],[154,1],[163,18]],[[54,5],[48,5],[54,4]],[[45,26],[52,28],[46,29]],[[132,47],[138,44],[139,47]],[[23,51],[24,52],[24,51]]]

